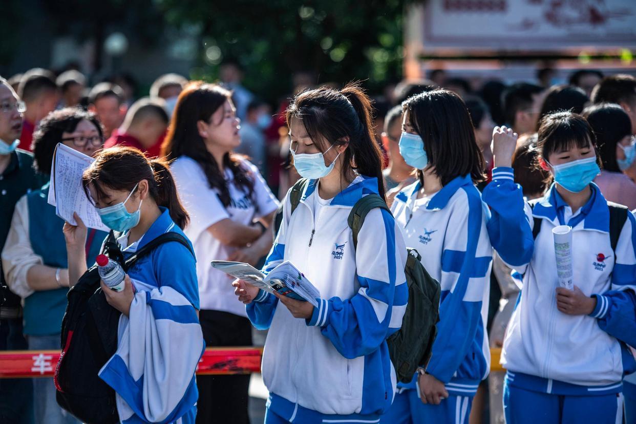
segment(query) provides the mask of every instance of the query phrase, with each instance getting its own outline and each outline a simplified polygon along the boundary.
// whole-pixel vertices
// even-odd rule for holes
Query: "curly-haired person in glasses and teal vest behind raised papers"
[[[94,114],[75,107],[60,109],[48,114],[34,133],[34,165],[41,174],[49,174],[57,144],[93,156],[103,142]],[[64,220],[46,202],[48,190],[47,183],[18,200],[2,252],[6,282],[22,297],[24,334],[35,351],[59,350],[69,287]],[[88,230],[87,266],[95,261],[104,238],[106,233]],[[36,423],[78,423],[57,405],[52,378],[33,380],[33,403]]]

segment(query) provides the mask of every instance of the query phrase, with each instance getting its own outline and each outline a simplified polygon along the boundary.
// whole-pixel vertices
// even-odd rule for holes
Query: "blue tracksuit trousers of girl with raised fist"
[[[504,414],[507,424],[616,424],[622,422],[623,393],[555,395],[524,390],[506,381]]]

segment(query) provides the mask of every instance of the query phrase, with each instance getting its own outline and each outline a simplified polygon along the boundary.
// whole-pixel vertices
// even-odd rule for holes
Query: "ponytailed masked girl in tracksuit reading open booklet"
[[[291,261],[321,298],[314,308],[235,282],[252,324],[269,328],[265,422],[377,423],[396,387],[385,339],[401,327],[408,289],[406,247],[391,213],[369,212],[357,249],[347,224],[357,200],[384,196],[370,102],[357,86],[310,90],[294,99],[287,122],[294,166],[310,181],[293,214],[285,198],[264,270]]]

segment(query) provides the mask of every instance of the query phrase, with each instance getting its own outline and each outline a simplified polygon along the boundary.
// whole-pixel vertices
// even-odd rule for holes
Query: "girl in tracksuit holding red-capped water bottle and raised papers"
[[[167,163],[129,147],[106,149],[86,168],[83,185],[102,223],[123,232],[117,241],[124,257],[164,233],[185,237],[188,214]],[[86,226],[76,220],[77,226],[64,224],[72,285],[86,271]],[[102,282],[121,317],[117,352],[99,376],[116,393],[122,423],[195,423],[195,370],[205,344],[190,249],[179,242],[159,245],[128,270],[123,291]]]

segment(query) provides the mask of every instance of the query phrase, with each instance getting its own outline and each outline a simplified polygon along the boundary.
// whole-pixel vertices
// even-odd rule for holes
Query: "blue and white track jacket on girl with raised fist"
[[[607,201],[595,184],[591,189],[590,200],[574,215],[554,185],[530,209],[513,182],[512,168],[495,168],[483,192],[492,208],[490,240],[502,259],[524,274],[501,358],[511,385],[563,395],[616,393],[623,374],[635,367],[618,339],[636,341],[636,219],[628,214],[613,252]],[[541,218],[536,240],[533,217]],[[551,230],[561,224],[572,227],[574,284],[597,298],[589,316],[566,315],[556,308]]]

